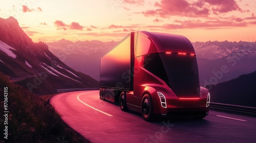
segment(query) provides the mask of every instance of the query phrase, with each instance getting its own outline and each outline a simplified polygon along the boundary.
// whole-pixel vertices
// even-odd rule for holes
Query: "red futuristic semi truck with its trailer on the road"
[[[200,87],[194,46],[184,36],[132,32],[100,60],[101,100],[121,110],[154,115],[205,117],[210,94]]]

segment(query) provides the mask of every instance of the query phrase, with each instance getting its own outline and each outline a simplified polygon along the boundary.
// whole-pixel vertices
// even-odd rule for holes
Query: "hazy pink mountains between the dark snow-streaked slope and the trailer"
[[[99,40],[72,42],[61,39],[47,43],[49,50],[71,68],[86,73],[99,81],[100,58],[108,53],[118,41]]]

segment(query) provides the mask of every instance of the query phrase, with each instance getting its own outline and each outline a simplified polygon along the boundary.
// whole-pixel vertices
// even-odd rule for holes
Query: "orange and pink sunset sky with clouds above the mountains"
[[[0,0],[34,41],[119,41],[131,31],[186,36],[190,41],[256,41],[255,0]]]

